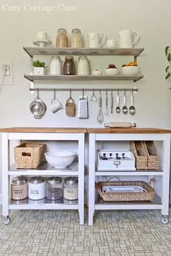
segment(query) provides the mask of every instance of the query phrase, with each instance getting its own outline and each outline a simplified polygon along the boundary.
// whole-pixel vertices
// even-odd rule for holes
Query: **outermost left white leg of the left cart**
[[[2,146],[2,215],[4,218],[9,216],[9,141],[8,133],[1,135]],[[8,220],[7,220],[8,222]],[[9,221],[10,222],[10,221]],[[4,219],[3,219],[4,223]]]

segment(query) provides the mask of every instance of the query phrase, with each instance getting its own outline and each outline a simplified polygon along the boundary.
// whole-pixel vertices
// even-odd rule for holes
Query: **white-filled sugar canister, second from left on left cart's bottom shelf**
[[[39,200],[45,197],[45,181],[41,176],[32,177],[28,182],[28,198]]]

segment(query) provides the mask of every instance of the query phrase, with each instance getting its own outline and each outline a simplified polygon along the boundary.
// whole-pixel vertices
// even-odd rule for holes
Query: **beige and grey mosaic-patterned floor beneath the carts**
[[[0,256],[171,256],[171,221],[158,210],[99,211],[93,226],[78,212],[18,210],[0,223]],[[86,215],[87,218],[87,215]]]

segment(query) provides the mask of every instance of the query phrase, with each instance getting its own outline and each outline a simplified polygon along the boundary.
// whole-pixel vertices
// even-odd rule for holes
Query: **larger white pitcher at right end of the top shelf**
[[[135,35],[135,39],[133,41],[133,37]],[[122,30],[119,31],[119,46],[120,48],[133,48],[135,44],[138,43],[139,34],[135,31],[130,30]]]

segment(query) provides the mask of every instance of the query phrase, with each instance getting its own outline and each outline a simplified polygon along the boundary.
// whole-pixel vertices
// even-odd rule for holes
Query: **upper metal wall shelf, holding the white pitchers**
[[[30,57],[33,55],[125,55],[137,57],[144,48],[57,48],[57,47],[23,47]]]

